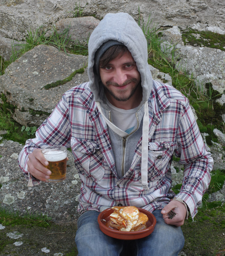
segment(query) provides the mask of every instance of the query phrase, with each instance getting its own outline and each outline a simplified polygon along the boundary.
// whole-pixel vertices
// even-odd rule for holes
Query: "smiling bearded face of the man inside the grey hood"
[[[122,57],[113,59],[107,66],[99,68],[99,73],[109,102],[110,99],[113,102],[127,101],[135,97],[137,90],[141,90],[141,77],[130,52],[125,52]]]

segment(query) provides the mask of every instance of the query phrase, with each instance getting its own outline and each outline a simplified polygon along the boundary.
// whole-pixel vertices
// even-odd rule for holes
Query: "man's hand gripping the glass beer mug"
[[[28,159],[27,170],[29,173],[41,181],[48,182],[51,171],[45,167],[48,165],[48,161],[46,161],[41,149],[35,149],[31,154],[29,154]]]

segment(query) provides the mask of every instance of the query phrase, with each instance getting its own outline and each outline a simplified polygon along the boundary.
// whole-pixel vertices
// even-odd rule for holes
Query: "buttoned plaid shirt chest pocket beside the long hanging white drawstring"
[[[148,180],[156,181],[163,177],[171,165],[174,151],[173,142],[148,143]]]

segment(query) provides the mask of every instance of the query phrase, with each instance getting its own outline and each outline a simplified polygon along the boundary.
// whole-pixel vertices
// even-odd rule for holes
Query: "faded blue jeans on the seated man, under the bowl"
[[[154,231],[137,240],[111,238],[99,229],[97,211],[83,213],[75,237],[79,256],[177,256],[184,245],[182,230],[166,224],[160,211],[153,212]]]

